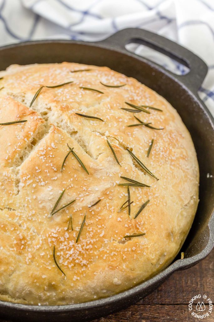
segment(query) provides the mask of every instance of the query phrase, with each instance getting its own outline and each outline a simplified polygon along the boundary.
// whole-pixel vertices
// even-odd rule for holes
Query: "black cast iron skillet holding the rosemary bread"
[[[141,43],[189,67],[177,76],[163,67],[126,51],[127,43]],[[207,73],[195,54],[166,38],[140,29],[124,29],[97,43],[47,40],[0,48],[0,70],[11,64],[78,62],[108,66],[132,76],[165,97],[177,109],[190,131],[200,167],[200,203],[182,250],[184,260],[175,261],[155,277],[117,295],[92,302],[64,306],[27,306],[0,301],[0,315],[21,321],[83,321],[98,318],[140,300],[174,271],[187,269],[204,259],[213,247],[214,235],[214,122],[197,90]],[[198,290],[199,292],[201,290]]]

